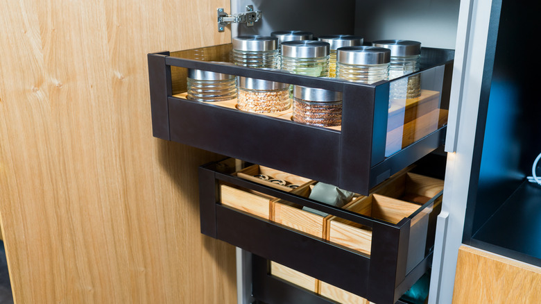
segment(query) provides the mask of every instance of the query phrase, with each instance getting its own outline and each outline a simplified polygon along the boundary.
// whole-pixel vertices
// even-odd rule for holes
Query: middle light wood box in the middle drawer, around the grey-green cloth
[[[316,183],[316,181],[312,181],[311,183],[293,190],[291,193],[309,197],[311,189]],[[343,206],[343,208],[347,208],[347,206],[351,205],[361,197],[363,196],[354,196],[351,201]],[[302,205],[296,205],[284,200],[273,201],[271,205],[273,206],[272,221],[302,231],[303,233],[325,239],[325,235],[327,234],[327,223],[328,219],[332,217],[331,215],[323,217],[319,214],[302,210]]]

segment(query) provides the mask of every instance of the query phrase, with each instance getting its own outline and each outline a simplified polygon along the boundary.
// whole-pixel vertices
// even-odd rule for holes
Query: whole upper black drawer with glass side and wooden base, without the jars
[[[155,137],[364,195],[445,140],[452,50],[423,48],[420,71],[364,84],[231,65],[231,49],[224,44],[148,55]],[[291,108],[263,115],[238,110],[236,99],[191,101],[188,69],[343,92],[341,126],[293,121]],[[420,95],[397,95],[410,80],[420,82]]]

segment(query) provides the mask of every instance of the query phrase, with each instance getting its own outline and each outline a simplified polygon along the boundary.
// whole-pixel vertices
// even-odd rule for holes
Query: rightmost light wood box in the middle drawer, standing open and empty
[[[443,180],[413,174],[409,172],[410,169],[395,174],[373,189],[370,196],[349,205],[347,210],[394,224],[410,217],[443,190]],[[406,267],[408,270],[415,267],[424,257],[429,214],[440,205],[440,202],[441,196],[411,219]],[[327,240],[370,255],[372,246],[370,228],[338,217],[331,217],[328,221]]]

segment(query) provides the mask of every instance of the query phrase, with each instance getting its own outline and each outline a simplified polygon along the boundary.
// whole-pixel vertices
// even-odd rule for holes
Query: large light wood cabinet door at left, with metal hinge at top
[[[230,42],[230,1],[1,0],[0,212],[17,303],[234,303],[197,166],[152,137],[146,54]]]

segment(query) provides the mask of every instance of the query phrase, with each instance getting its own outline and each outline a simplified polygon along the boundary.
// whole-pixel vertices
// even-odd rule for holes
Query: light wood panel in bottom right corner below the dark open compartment
[[[469,246],[458,250],[453,303],[541,303],[541,268]]]

